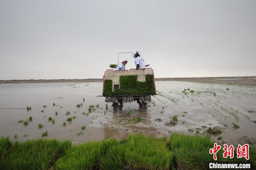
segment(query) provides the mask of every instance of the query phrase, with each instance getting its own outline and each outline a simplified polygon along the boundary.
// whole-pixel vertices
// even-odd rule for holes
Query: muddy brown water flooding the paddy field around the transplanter
[[[256,86],[179,81],[155,83],[161,95],[152,97],[146,108],[133,102],[124,103],[122,107],[112,107],[108,103],[107,109],[105,99],[96,97],[102,93],[101,82],[0,84],[0,136],[14,139],[17,134],[17,140],[26,140],[41,138],[42,133],[48,131],[45,138],[84,142],[107,136],[122,139],[129,133],[155,136],[169,135],[174,131],[193,134],[198,130],[203,133],[206,128],[202,126],[219,126],[224,139],[244,135],[256,137]],[[182,93],[188,88],[195,92],[186,90],[187,94]],[[82,107],[77,108],[80,103]],[[83,115],[83,112],[88,113],[90,105],[94,105],[95,110],[88,116]],[[32,107],[31,111],[27,111],[27,106]],[[70,112],[68,116],[65,115],[67,111]],[[127,112],[131,114],[127,115]],[[166,126],[165,123],[170,122],[174,115],[178,116],[177,125]],[[18,120],[27,120],[30,116],[33,119],[29,125],[18,123]],[[55,119],[55,124],[48,121],[50,116]],[[67,118],[73,116],[76,118],[68,123]],[[140,122],[138,117],[141,117]],[[64,121],[67,122],[65,127]],[[232,122],[240,128],[234,129]],[[38,129],[39,123],[44,127]],[[86,126],[84,131],[81,130],[83,125]],[[83,134],[78,136],[80,131]]]

